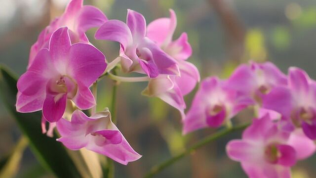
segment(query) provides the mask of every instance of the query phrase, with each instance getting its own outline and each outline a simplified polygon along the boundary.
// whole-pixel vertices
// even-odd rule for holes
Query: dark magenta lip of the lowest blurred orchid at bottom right
[[[296,163],[296,152],[292,146],[277,145],[277,150],[280,152],[280,157],[277,159],[277,164],[282,166],[291,167]]]

